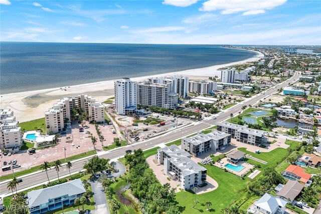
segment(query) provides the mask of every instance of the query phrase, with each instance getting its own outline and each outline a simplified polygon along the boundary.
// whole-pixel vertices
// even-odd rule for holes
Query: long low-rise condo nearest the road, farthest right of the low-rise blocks
[[[237,141],[247,143],[255,146],[260,146],[267,141],[264,136],[264,131],[248,128],[247,125],[237,125],[229,122],[222,122],[217,124],[217,130],[228,134]]]

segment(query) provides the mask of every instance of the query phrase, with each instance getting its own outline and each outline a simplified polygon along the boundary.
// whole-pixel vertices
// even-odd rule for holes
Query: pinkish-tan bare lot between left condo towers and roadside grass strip
[[[31,168],[32,166],[40,165],[44,161],[55,161],[58,159],[63,159],[65,157],[64,153],[64,147],[66,148],[66,157],[70,157],[76,154],[80,154],[83,152],[87,152],[94,149],[94,146],[91,142],[91,138],[89,137],[89,134],[86,134],[86,131],[90,131],[93,136],[95,136],[98,140],[95,145],[97,152],[102,151],[102,143],[103,146],[111,145],[113,142],[113,138],[117,137],[117,134],[112,134],[111,129],[113,128],[112,125],[99,125],[99,129],[102,132],[102,135],[104,136],[105,140],[101,143],[99,141],[99,137],[97,135],[95,126],[93,124],[89,124],[86,122],[86,125],[89,126],[88,129],[84,129],[84,132],[79,132],[79,125],[77,121],[73,121],[72,129],[67,131],[67,134],[72,135],[72,141],[66,142],[67,136],[62,136],[60,139],[60,142],[56,146],[52,146],[50,148],[46,149],[40,149],[37,150],[35,154],[29,155],[27,150],[20,151],[17,154],[13,154],[11,156],[1,156],[1,167],[4,166],[4,161],[10,161],[10,160],[17,160],[17,164],[20,164],[20,168],[16,168],[15,171],[22,171],[28,168]],[[74,146],[72,145],[74,144]],[[12,171],[5,171],[2,172],[2,175],[10,174]]]

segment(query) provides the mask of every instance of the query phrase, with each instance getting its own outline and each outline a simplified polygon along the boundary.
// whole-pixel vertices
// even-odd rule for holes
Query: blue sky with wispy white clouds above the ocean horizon
[[[321,1],[0,0],[1,41],[321,45]]]

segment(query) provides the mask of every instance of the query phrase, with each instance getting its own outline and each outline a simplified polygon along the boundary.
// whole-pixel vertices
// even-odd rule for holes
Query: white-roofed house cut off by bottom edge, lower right
[[[268,193],[265,193],[254,203],[255,210],[264,214],[283,214],[285,212],[286,201]]]

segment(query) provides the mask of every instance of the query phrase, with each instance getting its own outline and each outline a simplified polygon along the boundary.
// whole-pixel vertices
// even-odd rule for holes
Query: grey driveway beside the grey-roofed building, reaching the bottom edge
[[[95,210],[91,211],[93,214],[110,214],[107,205],[107,200],[104,188],[98,180],[90,181],[92,191],[94,193]]]

